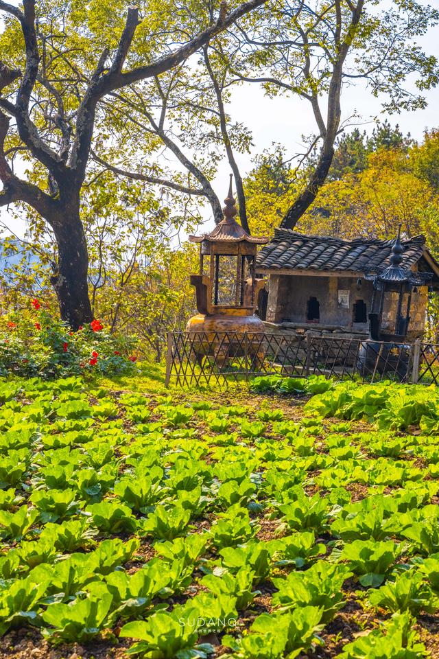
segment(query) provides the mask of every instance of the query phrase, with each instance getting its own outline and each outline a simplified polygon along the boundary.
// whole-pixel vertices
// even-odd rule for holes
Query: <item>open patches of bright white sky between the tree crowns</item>
[[[430,4],[439,9],[439,0],[432,0]],[[427,54],[435,55],[439,59],[439,27],[432,28],[421,44]],[[407,86],[410,88],[410,82]],[[379,117],[381,121],[387,118],[392,126],[399,124],[403,133],[410,132],[414,139],[420,140],[425,128],[439,127],[439,88],[425,92],[425,96],[428,106],[424,110],[401,112],[391,116],[381,115],[379,99],[372,97],[364,81],[361,81],[355,86],[345,86],[342,91],[342,120],[357,113],[359,117],[355,118],[355,123],[361,130],[365,128],[371,131],[375,117]],[[311,108],[306,101],[294,97],[269,99],[264,97],[257,84],[249,83],[236,89],[228,112],[234,122],[242,122],[248,126],[253,135],[252,154],[237,154],[243,175],[252,169],[252,156],[270,148],[273,142],[283,144],[286,157],[291,157],[302,150],[302,135],[316,132]],[[213,181],[220,200],[226,196],[229,172],[228,163],[222,161]],[[213,225],[209,205],[206,205],[202,215],[206,218],[206,228],[210,224]],[[0,217],[15,233],[23,233],[23,226],[12,221],[6,209],[3,209]]]

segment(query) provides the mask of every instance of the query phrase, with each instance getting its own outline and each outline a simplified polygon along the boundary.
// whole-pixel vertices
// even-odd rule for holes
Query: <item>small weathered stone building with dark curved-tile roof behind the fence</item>
[[[268,299],[262,317],[282,328],[368,334],[374,286],[365,279],[390,265],[395,240],[342,240],[276,229],[257,258],[257,273],[268,275]],[[402,240],[401,267],[431,273],[428,286],[408,286],[403,308],[410,322],[407,337],[423,334],[429,290],[439,290],[439,264],[425,238]],[[392,287],[390,287],[392,288]],[[395,333],[399,288],[383,299],[382,329]],[[408,305],[408,307],[407,307]]]

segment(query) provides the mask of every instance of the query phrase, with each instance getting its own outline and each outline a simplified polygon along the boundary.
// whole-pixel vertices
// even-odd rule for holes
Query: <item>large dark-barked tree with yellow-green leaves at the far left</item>
[[[3,59],[8,58],[0,67],[0,206],[26,205],[53,231],[58,257],[51,283],[62,319],[73,328],[92,319],[80,203],[106,100],[115,102],[114,95],[126,86],[176,69],[263,2],[248,0],[228,12],[223,1],[217,18],[212,10],[202,29],[191,6],[178,2],[152,3],[150,14],[139,21],[139,9],[126,10],[123,3],[49,1],[38,12],[34,0],[23,0],[23,9],[0,1],[5,16],[1,47]],[[133,48],[133,40],[140,46]],[[111,141],[112,135],[102,139]],[[27,177],[16,174],[17,154],[30,163]]]

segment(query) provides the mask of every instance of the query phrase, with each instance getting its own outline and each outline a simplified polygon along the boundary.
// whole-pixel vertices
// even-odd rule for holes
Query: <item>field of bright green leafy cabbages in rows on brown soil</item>
[[[437,389],[0,403],[1,658],[439,657]]]

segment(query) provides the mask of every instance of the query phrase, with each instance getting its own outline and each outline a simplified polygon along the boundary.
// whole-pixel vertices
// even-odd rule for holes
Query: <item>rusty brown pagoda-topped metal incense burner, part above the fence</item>
[[[189,237],[200,245],[200,273],[191,275],[198,315],[187,323],[187,332],[263,332],[254,315],[259,290],[254,266],[258,245],[268,238],[254,238],[235,220],[237,209],[232,193],[232,176],[224,200],[224,219],[211,233]]]

